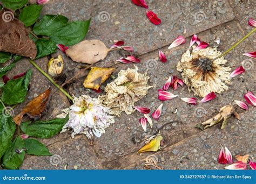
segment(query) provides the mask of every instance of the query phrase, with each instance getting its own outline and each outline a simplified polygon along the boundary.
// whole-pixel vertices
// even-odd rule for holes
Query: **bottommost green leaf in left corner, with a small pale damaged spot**
[[[25,157],[25,143],[21,137],[17,137],[6,150],[3,156],[2,165],[8,169],[19,168]]]

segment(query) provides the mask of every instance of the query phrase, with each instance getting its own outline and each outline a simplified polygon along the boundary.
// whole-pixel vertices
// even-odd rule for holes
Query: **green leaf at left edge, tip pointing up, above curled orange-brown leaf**
[[[2,88],[2,101],[8,105],[15,105],[25,101],[28,93],[32,70],[29,69],[23,77],[8,81]]]

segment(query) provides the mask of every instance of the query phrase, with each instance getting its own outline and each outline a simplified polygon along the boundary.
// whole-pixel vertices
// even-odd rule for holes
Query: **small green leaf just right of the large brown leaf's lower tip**
[[[52,54],[56,52],[56,44],[51,39],[38,39],[36,41],[36,47],[37,47],[37,56],[36,59],[42,58],[43,56]]]

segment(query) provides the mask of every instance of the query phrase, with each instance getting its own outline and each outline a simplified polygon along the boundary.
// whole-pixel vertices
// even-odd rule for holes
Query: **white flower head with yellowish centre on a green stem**
[[[114,118],[108,115],[108,110],[98,98],[82,95],[74,97],[73,105],[64,109],[64,113],[57,117],[62,118],[69,114],[69,121],[63,126],[62,132],[72,129],[72,137],[83,133],[91,138],[92,132],[96,137],[100,137],[105,133],[105,129],[114,123]]]

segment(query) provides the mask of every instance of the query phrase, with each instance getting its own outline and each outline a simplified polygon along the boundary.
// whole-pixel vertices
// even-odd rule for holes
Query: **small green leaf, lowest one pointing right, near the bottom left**
[[[51,156],[48,148],[43,143],[40,143],[36,139],[28,138],[25,139],[26,153],[37,155],[37,156]]]

